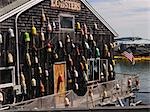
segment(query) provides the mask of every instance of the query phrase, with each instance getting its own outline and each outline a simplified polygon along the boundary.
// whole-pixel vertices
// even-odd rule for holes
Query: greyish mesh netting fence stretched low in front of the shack
[[[128,87],[128,79],[132,80],[131,88]],[[7,107],[9,107],[10,110],[65,109],[65,97],[67,97],[70,101],[70,105],[67,108],[92,109],[96,107],[103,107],[109,104],[113,104],[117,101],[122,103],[122,99],[131,98],[131,96],[134,95],[132,91],[138,89],[135,82],[136,80],[138,80],[137,75],[123,75],[121,80],[108,81],[104,83],[93,82],[92,85],[88,86],[88,91],[84,96],[77,96],[72,90],[70,90],[66,91],[65,93],[48,95],[16,104],[7,105]],[[116,85],[120,85],[120,87],[116,88]],[[92,88],[92,97],[89,95],[89,88]],[[122,103],[119,106],[124,107],[124,104]]]

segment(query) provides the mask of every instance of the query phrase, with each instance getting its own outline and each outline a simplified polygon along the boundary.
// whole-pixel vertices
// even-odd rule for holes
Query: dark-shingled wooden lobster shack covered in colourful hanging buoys
[[[86,0],[27,1],[0,16],[0,34],[6,94],[30,99],[63,88],[84,95],[89,81],[114,80],[118,34]]]

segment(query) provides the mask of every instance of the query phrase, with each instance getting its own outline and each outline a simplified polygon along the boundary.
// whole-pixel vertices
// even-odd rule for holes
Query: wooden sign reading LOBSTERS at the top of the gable
[[[80,11],[81,3],[77,0],[51,0],[51,7]]]

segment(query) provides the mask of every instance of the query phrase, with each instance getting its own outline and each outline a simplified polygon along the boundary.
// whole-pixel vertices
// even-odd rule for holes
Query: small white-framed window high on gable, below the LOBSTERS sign
[[[61,30],[74,30],[74,16],[61,14],[59,18]]]

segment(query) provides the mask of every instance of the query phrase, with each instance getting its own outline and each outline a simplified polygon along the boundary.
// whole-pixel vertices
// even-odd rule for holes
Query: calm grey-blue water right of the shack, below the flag
[[[150,62],[136,62],[135,65],[130,62],[117,62],[115,71],[116,73],[138,74],[140,77],[140,93],[136,96],[143,103],[150,104]]]

